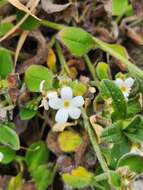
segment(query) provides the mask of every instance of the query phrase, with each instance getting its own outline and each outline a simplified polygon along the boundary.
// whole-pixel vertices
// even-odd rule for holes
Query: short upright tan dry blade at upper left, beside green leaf
[[[17,63],[17,59],[18,59],[20,50],[21,50],[21,48],[22,48],[28,34],[29,34],[29,31],[23,31],[20,38],[19,38],[19,41],[18,41],[18,44],[17,44],[17,47],[16,47],[15,57],[14,57],[14,70],[15,70],[15,67],[16,67],[16,63]]]

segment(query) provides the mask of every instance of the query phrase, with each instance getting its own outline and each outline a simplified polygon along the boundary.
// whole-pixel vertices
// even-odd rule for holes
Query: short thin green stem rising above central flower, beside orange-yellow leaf
[[[63,56],[63,53],[62,53],[62,48],[61,46],[59,45],[58,42],[56,42],[56,50],[57,50],[57,54],[58,54],[58,57],[59,57],[59,61],[63,67],[63,69],[67,72],[68,75],[70,75],[70,70],[68,68],[68,65],[65,61],[65,58]]]

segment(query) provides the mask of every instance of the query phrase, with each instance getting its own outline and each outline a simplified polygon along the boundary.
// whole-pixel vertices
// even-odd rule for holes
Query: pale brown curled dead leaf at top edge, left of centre
[[[43,10],[48,14],[61,12],[72,5],[72,3],[66,3],[66,4],[62,4],[62,5],[61,4],[53,4],[50,0],[41,0],[41,4],[42,4]]]

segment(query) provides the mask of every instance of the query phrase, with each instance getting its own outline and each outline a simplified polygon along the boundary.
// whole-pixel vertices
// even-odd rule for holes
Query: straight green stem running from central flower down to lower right
[[[104,160],[104,158],[102,156],[102,153],[101,153],[101,150],[100,150],[99,145],[97,143],[95,134],[94,134],[94,132],[93,132],[93,130],[91,128],[91,125],[90,125],[90,123],[88,121],[88,117],[87,117],[86,112],[85,112],[84,109],[82,110],[82,117],[83,117],[83,120],[84,120],[85,129],[88,132],[89,138],[91,140],[91,143],[92,143],[92,146],[93,146],[94,151],[96,153],[96,156],[98,158],[98,161],[99,161],[103,171],[108,173],[109,172],[108,166],[107,166],[107,164],[106,164],[106,162],[105,162],[105,160]]]

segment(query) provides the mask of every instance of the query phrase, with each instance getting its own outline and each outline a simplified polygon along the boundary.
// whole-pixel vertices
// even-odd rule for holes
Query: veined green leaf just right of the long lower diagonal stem
[[[122,138],[121,127],[121,122],[117,122],[109,127],[106,127],[101,134],[101,140],[106,142],[120,141]]]

